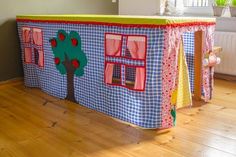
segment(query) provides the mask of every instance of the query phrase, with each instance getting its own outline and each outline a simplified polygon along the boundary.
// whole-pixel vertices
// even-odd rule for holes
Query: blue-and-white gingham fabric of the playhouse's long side
[[[66,75],[61,75],[54,65],[54,56],[49,39],[55,37],[57,31],[61,29],[65,30],[67,33],[77,31],[81,36],[82,49],[87,56],[88,64],[84,69],[84,75],[80,78],[74,78],[76,100],[83,106],[144,128],[161,128],[162,57],[164,48],[163,29],[18,22],[20,38],[22,37],[21,28],[24,26],[37,27],[43,30],[43,48],[45,55],[45,65],[43,68],[39,68],[34,64],[23,65],[26,86],[39,87],[48,94],[62,99],[66,97]],[[134,91],[125,87],[106,85],[104,83],[105,33],[147,36],[145,91]],[[188,35],[186,35],[186,37],[188,37]],[[23,54],[22,58],[24,58],[24,45],[22,44],[22,40],[21,48]],[[122,53],[125,55],[125,52]],[[112,57],[107,59],[111,61],[114,60]],[[120,59],[115,59],[115,61],[119,62]],[[143,62],[126,59],[122,62],[130,65],[144,65]],[[191,58],[189,62],[191,62]],[[126,72],[123,65],[120,70],[122,70],[122,73]],[[133,78],[131,77],[131,79]]]

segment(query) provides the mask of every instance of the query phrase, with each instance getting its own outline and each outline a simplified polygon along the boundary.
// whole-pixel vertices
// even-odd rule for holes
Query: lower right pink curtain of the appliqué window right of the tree
[[[134,89],[143,90],[145,85],[145,68],[136,68]]]

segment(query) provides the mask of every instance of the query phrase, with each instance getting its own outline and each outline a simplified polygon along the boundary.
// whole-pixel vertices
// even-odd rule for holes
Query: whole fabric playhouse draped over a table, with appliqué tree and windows
[[[143,128],[174,126],[192,94],[211,99],[214,18],[19,15],[17,25],[28,87]]]

